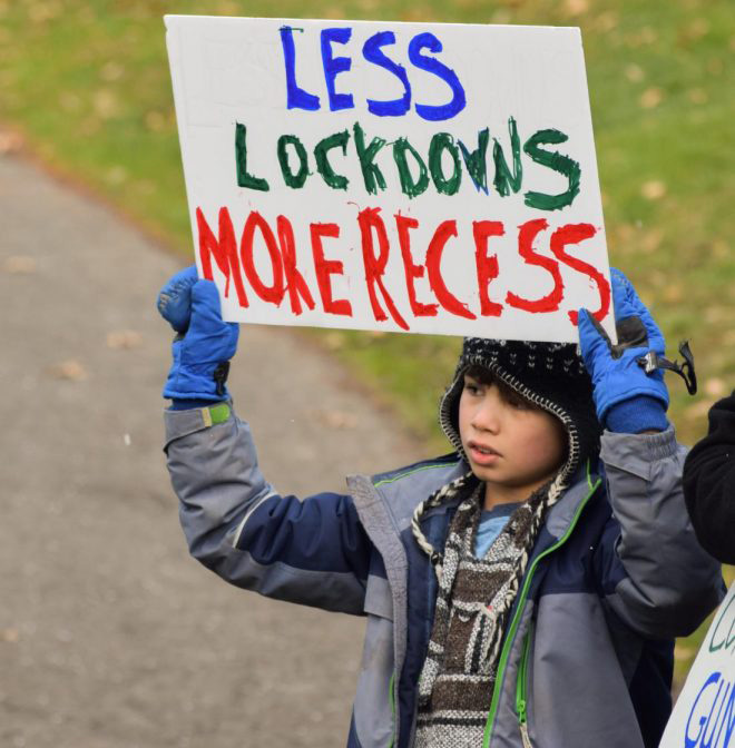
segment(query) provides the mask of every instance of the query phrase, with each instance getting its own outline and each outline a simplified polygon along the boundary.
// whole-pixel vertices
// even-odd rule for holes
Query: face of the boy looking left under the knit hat
[[[472,472],[486,481],[486,508],[526,501],[565,459],[561,422],[497,383],[464,375],[459,427]]]

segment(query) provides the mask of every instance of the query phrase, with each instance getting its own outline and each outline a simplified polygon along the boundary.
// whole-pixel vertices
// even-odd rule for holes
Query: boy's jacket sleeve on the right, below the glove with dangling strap
[[[724,593],[719,564],[686,512],[685,454],[672,427],[602,435],[612,516],[595,550],[597,574],[608,608],[651,639],[688,636]]]

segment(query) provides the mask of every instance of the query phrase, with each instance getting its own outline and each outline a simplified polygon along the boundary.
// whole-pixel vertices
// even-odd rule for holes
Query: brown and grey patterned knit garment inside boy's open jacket
[[[433,551],[439,591],[419,678],[416,748],[482,745],[508,612],[553,488],[542,486],[519,506],[482,559],[474,543],[484,483],[465,475],[420,508],[469,492],[450,523],[443,558]]]

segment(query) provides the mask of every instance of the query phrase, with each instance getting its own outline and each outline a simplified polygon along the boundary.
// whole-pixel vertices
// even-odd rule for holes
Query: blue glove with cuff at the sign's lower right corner
[[[668,390],[664,373],[646,365],[664,360],[664,336],[628,278],[616,269],[610,276],[617,345],[587,309],[579,311],[579,343],[595,387],[597,417],[614,431],[665,429]]]

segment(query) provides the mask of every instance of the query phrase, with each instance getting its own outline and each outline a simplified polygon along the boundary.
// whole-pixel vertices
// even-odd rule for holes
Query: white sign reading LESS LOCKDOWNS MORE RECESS
[[[165,20],[225,318],[615,336],[579,29]]]

